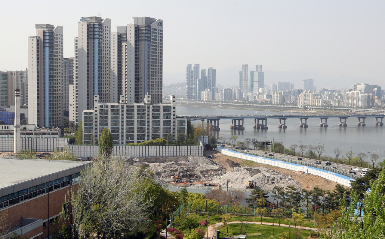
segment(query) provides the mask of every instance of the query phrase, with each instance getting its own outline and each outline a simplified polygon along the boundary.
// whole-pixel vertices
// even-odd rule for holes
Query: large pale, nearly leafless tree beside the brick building
[[[106,239],[119,234],[134,237],[149,230],[150,208],[156,198],[151,194],[146,199],[149,186],[144,178],[149,174],[124,163],[102,155],[82,171],[80,184],[66,195],[70,206],[63,207],[60,216],[70,224],[74,238],[99,235]]]

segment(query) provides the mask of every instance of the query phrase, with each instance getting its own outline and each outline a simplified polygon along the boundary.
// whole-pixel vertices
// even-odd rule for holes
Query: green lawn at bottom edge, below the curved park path
[[[245,233],[246,228],[244,227],[245,224],[243,224],[242,234],[241,234],[241,230],[239,228],[240,226],[241,226],[240,223],[229,224],[228,225],[228,229],[229,229],[228,233],[226,232],[226,226],[219,226],[218,230],[225,233],[225,234],[228,234],[230,236],[238,236],[238,235],[246,234]],[[261,231],[258,232],[258,230],[261,230]],[[258,224],[249,224],[249,226],[247,227],[247,238],[248,239],[278,238],[281,236],[281,233],[283,233],[283,232],[289,232],[289,228],[288,227],[275,226],[274,227],[274,236],[273,236],[273,226],[261,225],[261,224],[259,224],[259,225]],[[295,237],[296,232],[297,232],[296,229],[291,228],[290,229],[290,238],[296,238]],[[310,233],[316,234],[316,232],[301,230],[300,238],[310,238]]]

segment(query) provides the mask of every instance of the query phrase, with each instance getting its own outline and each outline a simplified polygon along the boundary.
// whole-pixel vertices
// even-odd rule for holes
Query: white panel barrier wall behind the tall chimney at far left
[[[21,138],[21,150],[32,149],[35,152],[53,152],[55,148],[64,148],[68,138]],[[0,138],[0,152],[13,152],[13,138]]]

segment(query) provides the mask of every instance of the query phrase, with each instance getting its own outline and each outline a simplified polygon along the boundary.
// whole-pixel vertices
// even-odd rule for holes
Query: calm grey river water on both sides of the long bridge
[[[176,107],[177,115],[297,115],[295,112],[277,112],[277,111],[266,111],[266,110],[237,110],[237,109],[223,109],[223,108],[204,108],[204,107],[191,107],[191,106],[179,106]],[[303,113],[301,113],[303,115]],[[205,121],[206,123],[207,121]],[[382,138],[385,136],[385,126],[376,126],[375,118],[365,119],[366,126],[357,126],[357,118],[349,118],[346,120],[347,127],[340,127],[338,118],[329,118],[328,127],[320,127],[320,119],[313,118],[308,119],[308,128],[301,128],[300,119],[287,119],[287,129],[278,128],[278,119],[268,119],[268,129],[260,130],[253,129],[254,119],[244,119],[244,130],[232,130],[230,129],[231,119],[222,119],[219,121],[220,131],[216,132],[216,136],[231,137],[232,135],[238,135],[237,141],[244,141],[245,138],[256,138],[257,140],[266,140],[264,137],[269,139],[278,139],[278,142],[285,143],[286,148],[292,144],[300,145],[318,145],[324,144],[325,155],[335,157],[333,150],[340,148],[342,155],[345,152],[352,151],[357,155],[362,152],[375,151],[380,158],[378,162],[382,162],[385,145],[382,142]],[[193,124],[201,124],[201,120],[192,122]],[[298,149],[297,149],[298,150]],[[366,153],[368,155],[368,153]],[[341,157],[342,157],[341,155]],[[368,159],[367,159],[368,161]]]

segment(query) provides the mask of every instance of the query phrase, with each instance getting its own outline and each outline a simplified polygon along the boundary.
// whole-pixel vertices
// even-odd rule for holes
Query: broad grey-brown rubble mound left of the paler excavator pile
[[[214,177],[226,173],[226,169],[206,157],[134,157],[123,158],[130,165],[149,168],[162,182],[189,183],[196,181],[211,181]],[[164,183],[162,183],[164,184]]]

